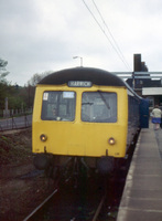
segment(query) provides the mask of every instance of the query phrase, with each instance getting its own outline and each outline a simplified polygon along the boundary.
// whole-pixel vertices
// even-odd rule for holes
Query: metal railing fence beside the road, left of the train
[[[0,119],[0,131],[22,129],[32,126],[32,115]]]

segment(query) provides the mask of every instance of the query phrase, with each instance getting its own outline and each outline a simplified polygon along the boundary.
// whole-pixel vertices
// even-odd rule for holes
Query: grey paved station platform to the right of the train
[[[117,221],[162,221],[162,129],[141,129]]]

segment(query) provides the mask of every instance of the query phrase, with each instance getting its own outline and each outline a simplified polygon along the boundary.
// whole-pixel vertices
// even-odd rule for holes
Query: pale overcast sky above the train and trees
[[[79,66],[73,56],[84,66],[130,72],[136,53],[161,72],[161,21],[162,0],[0,0],[7,80],[23,86],[35,73]]]

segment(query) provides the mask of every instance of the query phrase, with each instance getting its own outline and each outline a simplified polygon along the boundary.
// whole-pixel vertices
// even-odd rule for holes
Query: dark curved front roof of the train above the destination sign
[[[94,67],[74,67],[54,72],[39,82],[44,85],[62,85],[69,81],[89,81],[96,85],[127,86],[122,78],[104,70]]]

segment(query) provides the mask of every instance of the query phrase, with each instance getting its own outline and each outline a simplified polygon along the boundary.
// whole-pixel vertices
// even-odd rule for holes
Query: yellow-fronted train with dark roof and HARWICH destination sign
[[[112,171],[139,128],[139,102],[107,71],[76,67],[44,77],[33,110],[35,167],[67,169],[79,161],[87,169]]]

